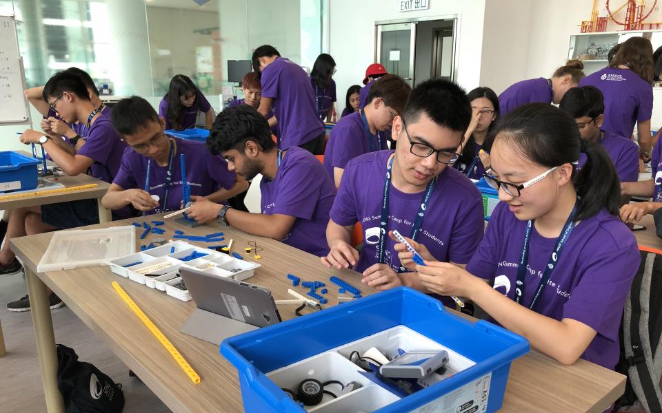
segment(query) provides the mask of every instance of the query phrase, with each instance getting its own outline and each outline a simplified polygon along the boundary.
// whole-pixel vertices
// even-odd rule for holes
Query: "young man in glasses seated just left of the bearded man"
[[[143,213],[161,213],[181,208],[180,156],[184,156],[191,200],[221,202],[248,189],[237,181],[228,163],[207,151],[203,142],[166,136],[165,120],[147,100],[132,96],[113,107],[112,125],[129,145],[103,206],[121,209],[132,205]]]

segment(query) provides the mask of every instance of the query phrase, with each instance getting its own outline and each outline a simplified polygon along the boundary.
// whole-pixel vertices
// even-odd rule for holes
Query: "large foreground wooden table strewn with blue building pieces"
[[[158,219],[158,215],[147,218]],[[97,224],[88,228],[105,228],[129,222],[125,220]],[[287,294],[288,288],[291,288],[287,273],[294,273],[302,280],[311,281],[339,275],[345,281],[360,286],[364,295],[374,293],[374,290],[360,284],[357,273],[324,268],[318,257],[274,240],[246,235],[229,227],[221,227],[215,222],[196,229],[184,229],[168,220],[161,228],[166,230],[165,237],[172,235],[174,229],[182,229],[190,235],[223,231],[225,241],[234,238],[233,251],[239,251],[242,255],[245,255],[243,248],[247,246],[246,243],[249,240],[257,240],[258,245],[264,248],[260,252],[262,259],[259,262],[262,266],[248,282],[269,288],[274,299],[291,298]],[[179,328],[194,309],[193,301],[179,301],[161,291],[114,275],[108,267],[36,274],[37,263],[46,251],[51,237],[52,233],[44,233],[11,240],[12,250],[23,260],[26,267],[48,412],[63,412],[63,402],[57,390],[57,357],[46,286],[57,293],[90,329],[101,336],[126,366],[174,412],[243,410],[237,372],[221,357],[218,346],[179,332]],[[138,240],[139,244],[148,242],[149,239]],[[110,285],[112,281],[119,282],[178,348],[200,375],[200,384],[194,385],[186,377],[170,354],[115,293]],[[328,298],[328,306],[337,304],[334,295],[330,294]],[[293,318],[295,307],[279,307],[281,317]],[[621,374],[583,360],[577,361],[573,366],[562,366],[550,357],[532,350],[512,363],[501,411],[603,412],[623,394],[624,388],[625,377]]]

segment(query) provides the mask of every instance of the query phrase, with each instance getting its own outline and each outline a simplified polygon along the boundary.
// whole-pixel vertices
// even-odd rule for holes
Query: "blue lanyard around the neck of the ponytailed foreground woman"
[[[545,284],[547,284],[547,282],[550,280],[550,275],[552,275],[552,271],[554,271],[554,268],[556,267],[556,264],[559,261],[559,257],[561,257],[561,251],[563,251],[563,246],[565,246],[565,243],[568,242],[570,233],[572,233],[572,229],[574,229],[574,222],[572,220],[574,218],[574,214],[576,213],[576,211],[577,211],[577,204],[574,204],[574,207],[572,208],[572,212],[570,212],[570,216],[568,216],[568,220],[565,221],[565,225],[563,226],[563,231],[561,231],[561,235],[559,235],[559,237],[556,239],[556,245],[554,245],[554,249],[552,250],[552,256],[550,257],[550,261],[545,267],[545,272],[543,273],[543,277],[540,279],[538,288],[536,288],[536,293],[534,294],[533,299],[531,300],[531,304],[529,305],[530,309],[533,309],[533,306],[536,305],[536,302],[540,297],[540,293],[543,291],[543,288],[545,288]],[[524,233],[524,246],[522,247],[521,260],[519,262],[519,266],[517,266],[517,284],[515,288],[515,302],[517,304],[521,304],[522,295],[525,286],[526,273],[528,273],[528,270],[526,269],[526,265],[529,260],[529,242],[531,240],[532,226],[533,226],[533,221],[529,220],[529,222],[526,224],[526,232]]]

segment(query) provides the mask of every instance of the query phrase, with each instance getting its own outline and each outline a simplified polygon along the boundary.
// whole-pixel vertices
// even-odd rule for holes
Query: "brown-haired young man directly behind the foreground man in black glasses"
[[[402,112],[412,88],[403,78],[387,74],[374,83],[368,105],[339,120],[324,151],[324,168],[340,187],[347,162],[363,153],[388,149],[384,134]]]

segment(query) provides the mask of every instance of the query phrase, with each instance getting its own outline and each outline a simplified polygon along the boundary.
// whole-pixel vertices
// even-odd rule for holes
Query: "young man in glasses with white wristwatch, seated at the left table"
[[[112,128],[110,119],[101,116],[103,106],[94,106],[90,101],[88,87],[80,76],[60,72],[54,74],[42,92],[50,111],[65,123],[81,123],[88,129],[84,145],[76,153],[68,143],[56,138],[52,139],[38,131],[26,130],[21,135],[21,142],[35,143],[43,146],[55,164],[68,176],[86,173],[88,169],[94,178],[112,182],[122,159],[126,143],[122,142]],[[131,211],[123,209],[114,211],[114,218],[129,218]],[[6,238],[32,235],[56,229],[69,229],[99,222],[99,209],[95,200],[78,200],[61,202],[59,204],[42,205],[12,210],[9,218]],[[0,251],[0,273],[17,260],[6,242]],[[49,295],[50,308],[59,308],[62,301],[54,293]],[[30,310],[30,299],[25,297],[7,304],[10,311],[22,312]]]

